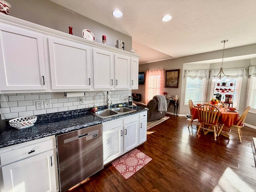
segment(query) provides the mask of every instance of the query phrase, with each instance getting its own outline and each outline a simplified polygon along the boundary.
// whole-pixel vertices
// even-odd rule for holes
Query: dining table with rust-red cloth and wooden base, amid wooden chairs
[[[225,111],[224,108],[219,108],[220,110],[220,118],[219,118],[219,123],[221,126],[227,126],[230,127],[233,125],[234,122],[238,121],[239,119],[239,113],[237,110],[235,111]],[[198,107],[194,106],[192,108],[192,118],[193,119],[198,119]],[[221,135],[229,138],[229,134],[227,132],[224,132],[223,130],[220,132]]]

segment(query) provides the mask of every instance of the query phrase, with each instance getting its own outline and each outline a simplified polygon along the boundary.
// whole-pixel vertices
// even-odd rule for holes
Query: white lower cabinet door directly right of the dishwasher
[[[122,126],[103,132],[103,161],[104,164],[123,154]]]

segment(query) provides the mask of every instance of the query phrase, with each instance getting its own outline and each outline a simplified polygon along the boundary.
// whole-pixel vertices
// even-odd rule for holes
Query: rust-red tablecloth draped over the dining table
[[[198,119],[198,112],[197,107],[192,108],[192,115],[193,119]],[[224,108],[220,109],[220,123],[224,124],[225,126],[232,126],[234,121],[237,121],[239,119],[239,113],[238,112],[228,112],[224,111]]]

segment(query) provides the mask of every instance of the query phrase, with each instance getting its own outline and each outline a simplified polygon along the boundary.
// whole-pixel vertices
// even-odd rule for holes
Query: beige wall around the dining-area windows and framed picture
[[[225,49],[224,57],[235,57],[235,56],[242,56],[248,54],[256,54],[256,44],[241,46],[236,48],[229,48]],[[208,52],[203,54],[197,54],[192,56],[186,56],[181,58],[174,58],[170,60],[160,61],[160,62],[153,62],[148,64],[139,65],[139,71],[145,72],[146,70],[155,70],[155,69],[180,69],[180,86],[179,88],[164,88],[168,94],[174,96],[178,94],[180,96],[179,100],[179,109],[178,114],[185,115],[189,111],[189,107],[184,105],[184,92],[185,92],[185,79],[183,79],[184,70],[186,69],[218,69],[220,68],[221,63],[212,63],[212,64],[191,64],[192,62],[198,61],[205,61],[205,60],[212,60],[212,59],[219,59],[222,58],[222,50]],[[244,59],[244,60],[237,60],[232,62],[224,62],[223,68],[240,68],[246,67],[248,70],[249,66],[253,66],[256,64],[256,59]],[[248,92],[248,79],[243,78],[242,80],[242,90],[240,96],[240,104],[239,104],[239,111],[242,114],[243,110],[246,108],[247,105],[247,97],[246,94]],[[164,86],[164,85],[163,85]],[[211,80],[208,81],[207,89],[207,97],[206,100],[210,99],[210,89],[211,89]],[[142,102],[144,101],[145,96],[145,87],[144,85],[140,85],[138,90],[132,90],[132,92],[142,94]],[[168,108],[168,112],[173,112],[173,108]],[[246,118],[246,123],[256,127],[256,114],[248,114],[248,118]]]

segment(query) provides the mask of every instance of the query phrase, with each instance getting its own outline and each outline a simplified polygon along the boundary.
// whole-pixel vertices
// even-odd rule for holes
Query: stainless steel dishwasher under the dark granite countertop
[[[57,136],[60,191],[103,169],[102,124]]]

